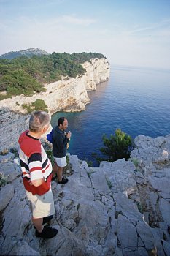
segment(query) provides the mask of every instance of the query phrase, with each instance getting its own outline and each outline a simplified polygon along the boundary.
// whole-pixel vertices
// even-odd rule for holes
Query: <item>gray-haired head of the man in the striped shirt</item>
[[[43,127],[50,123],[50,115],[45,111],[34,111],[29,119],[31,132],[40,132]]]

